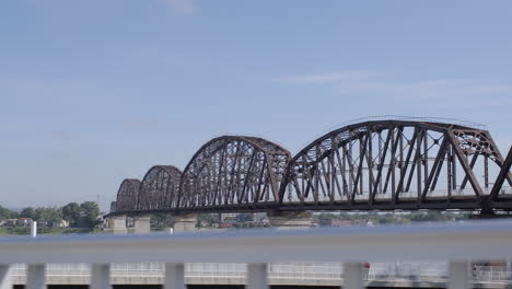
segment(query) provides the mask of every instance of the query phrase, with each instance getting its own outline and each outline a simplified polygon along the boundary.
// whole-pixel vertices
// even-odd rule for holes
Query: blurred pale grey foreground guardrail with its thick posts
[[[470,261],[512,259],[512,221],[407,227],[251,230],[175,235],[73,235],[0,239],[0,286],[25,263],[26,288],[45,287],[45,264],[88,263],[91,287],[109,288],[112,263],[165,263],[165,288],[183,289],[185,263],[244,263],[246,287],[267,288],[268,265],[344,263],[344,288],[363,287],[363,263],[447,261],[449,288],[468,288]]]

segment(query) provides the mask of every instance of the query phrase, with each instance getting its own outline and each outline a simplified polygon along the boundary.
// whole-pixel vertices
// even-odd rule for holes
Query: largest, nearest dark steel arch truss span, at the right
[[[489,172],[503,161],[487,130],[426,122],[353,124],[294,155],[280,208],[486,208]]]

